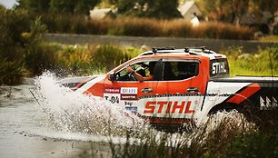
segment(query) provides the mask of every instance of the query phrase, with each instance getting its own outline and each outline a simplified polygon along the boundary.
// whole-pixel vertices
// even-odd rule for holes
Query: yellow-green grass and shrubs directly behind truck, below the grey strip
[[[25,51],[24,55],[14,59],[0,56],[0,84],[21,84],[24,77],[34,77],[46,70],[63,76],[104,74],[145,50],[114,44],[40,42]],[[12,56],[18,55],[16,53]],[[219,53],[227,55],[231,76],[278,76],[278,44],[260,49],[256,54],[244,53],[243,47],[238,46]]]

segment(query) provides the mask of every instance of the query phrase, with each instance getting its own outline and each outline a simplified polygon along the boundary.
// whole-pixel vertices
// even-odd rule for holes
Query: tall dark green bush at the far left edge
[[[0,7],[0,84],[19,84],[24,75],[25,39],[30,20],[24,10]]]

